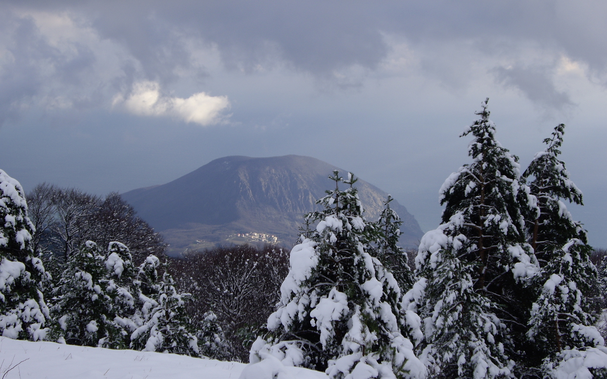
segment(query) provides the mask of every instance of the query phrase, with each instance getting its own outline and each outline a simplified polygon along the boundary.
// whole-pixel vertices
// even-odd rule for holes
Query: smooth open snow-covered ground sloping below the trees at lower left
[[[4,379],[238,379],[246,367],[243,363],[175,354],[18,341],[5,337],[0,337],[0,363],[0,378],[18,364]],[[296,379],[325,377],[320,372],[296,370],[292,375]]]

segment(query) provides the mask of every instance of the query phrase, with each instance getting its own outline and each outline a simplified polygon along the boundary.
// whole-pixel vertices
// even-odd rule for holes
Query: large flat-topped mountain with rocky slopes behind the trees
[[[346,173],[309,156],[226,156],[171,183],[122,196],[164,235],[172,253],[222,243],[237,233],[267,233],[292,244],[304,213],[317,209],[314,202],[334,186],[327,178],[333,170]],[[361,179],[356,187],[366,218],[375,220],[387,193]],[[417,221],[396,200],[390,204],[404,221],[401,244],[416,246],[423,234]]]

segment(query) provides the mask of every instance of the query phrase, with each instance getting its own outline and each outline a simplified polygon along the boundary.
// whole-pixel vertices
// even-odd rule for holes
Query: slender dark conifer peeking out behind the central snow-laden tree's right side
[[[398,238],[401,235],[401,218],[390,208],[390,202],[394,200],[388,195],[384,201],[384,210],[379,215],[377,224],[377,257],[392,275],[394,275],[401,292],[407,292],[413,286],[413,273],[407,262],[407,253],[398,246]]]

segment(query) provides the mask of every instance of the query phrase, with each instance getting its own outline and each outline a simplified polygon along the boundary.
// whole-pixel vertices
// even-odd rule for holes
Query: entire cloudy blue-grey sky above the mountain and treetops
[[[0,2],[0,168],[106,194],[226,155],[308,155],[422,229],[489,97],[523,169],[563,155],[607,247],[604,1]]]

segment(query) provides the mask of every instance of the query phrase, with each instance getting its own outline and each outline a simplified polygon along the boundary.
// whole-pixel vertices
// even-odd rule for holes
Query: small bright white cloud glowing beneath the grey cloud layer
[[[115,98],[114,105],[118,104],[135,115],[173,116],[202,126],[220,122],[223,110],[229,107],[227,96],[211,96],[205,92],[194,93],[186,99],[162,96],[160,85],[152,81],[136,83],[126,99],[121,95]]]

